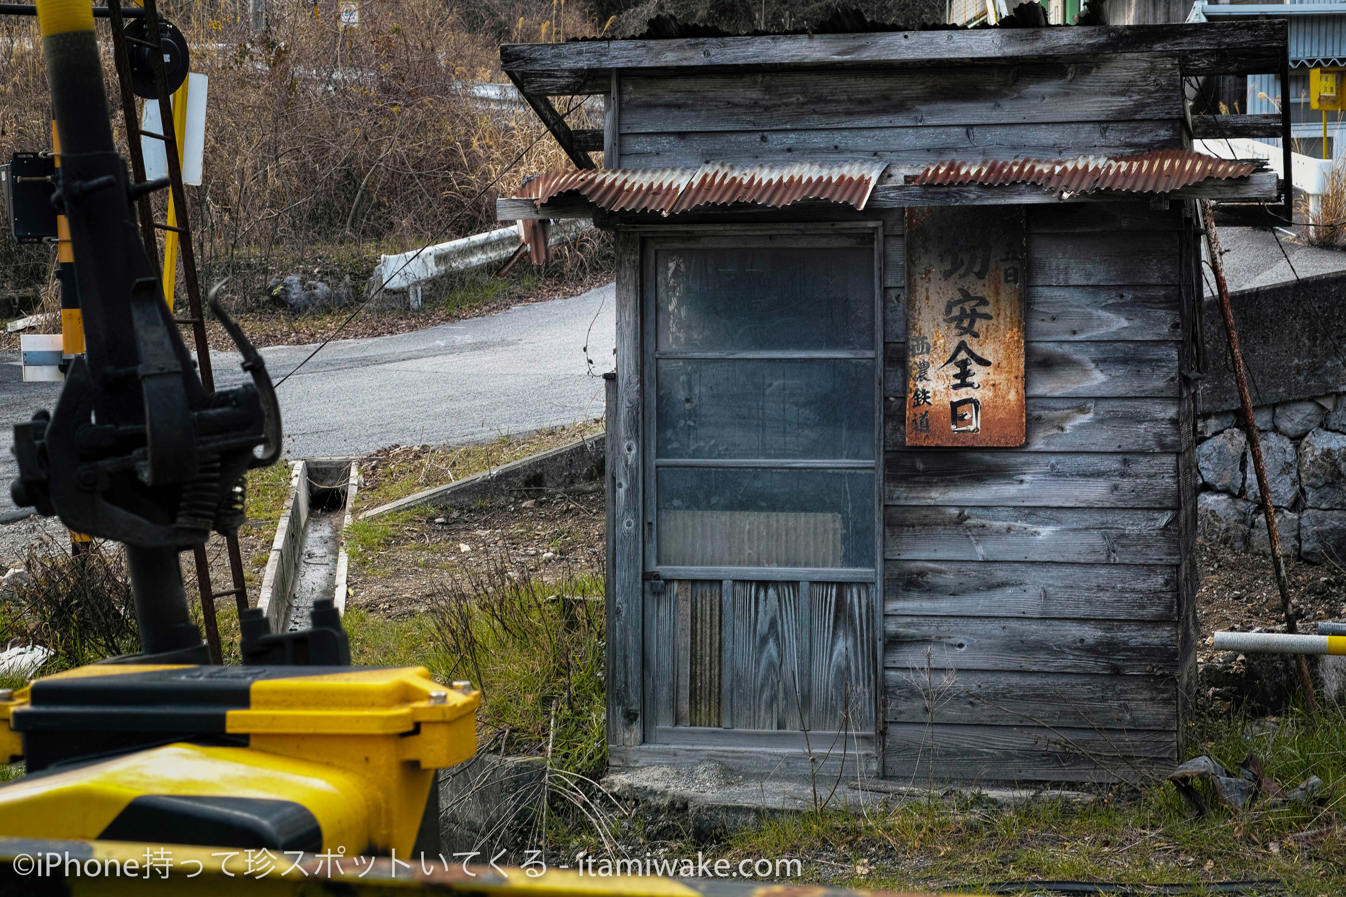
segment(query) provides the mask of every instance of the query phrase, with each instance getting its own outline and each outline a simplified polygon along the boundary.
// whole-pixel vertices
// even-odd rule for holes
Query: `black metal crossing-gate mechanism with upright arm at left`
[[[7,9],[0,8],[3,12]],[[59,515],[74,531],[125,543],[141,652],[113,662],[218,663],[218,654],[207,648],[191,621],[178,553],[195,549],[201,573],[202,546],[210,531],[225,534],[230,566],[237,566],[234,594],[242,598],[241,608],[246,607],[237,551],[237,529],[245,520],[244,477],[279,459],[280,407],[261,356],[211,296],[211,311],[252,375],[244,386],[214,389],[187,227],[182,227],[182,249],[192,319],[175,320],[164,303],[162,278],[149,258],[153,242],[143,239],[152,230],[137,229],[133,203],[141,200],[144,210],[149,191],[171,187],[179,215],[187,208],[163,65],[166,31],[153,0],[147,0],[143,11],[145,39],[121,34],[120,12],[112,0],[109,17],[118,48],[137,42],[151,48],[145,61],[153,70],[164,128],[156,136],[166,144],[170,178],[151,183],[128,179],[112,137],[93,32],[46,38],[43,52],[61,134],[51,202],[70,223],[86,354],[70,366],[55,410],[39,410],[31,421],[15,425],[19,477],[11,494],[20,507]],[[186,42],[180,46],[186,48]],[[183,55],[183,78],[186,69]],[[135,65],[118,65],[118,74],[124,73],[133,77]],[[125,74],[124,98],[129,93]],[[129,132],[135,156],[137,133]],[[143,178],[143,167],[136,168]],[[195,327],[199,374],[179,323]],[[207,624],[213,624],[213,598],[218,596],[209,592],[209,578],[203,586],[202,604]],[[272,658],[273,646],[280,646],[284,659],[273,663],[314,663],[319,658],[350,663],[336,612],[315,608],[314,623],[308,633],[287,636],[257,633],[253,627],[254,654],[264,651]]]

